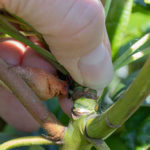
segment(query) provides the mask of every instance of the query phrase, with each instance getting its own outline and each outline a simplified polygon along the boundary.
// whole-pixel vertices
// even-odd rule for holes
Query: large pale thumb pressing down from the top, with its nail
[[[112,62],[99,0],[0,0],[0,7],[42,33],[57,60],[78,83],[103,89],[111,81]]]

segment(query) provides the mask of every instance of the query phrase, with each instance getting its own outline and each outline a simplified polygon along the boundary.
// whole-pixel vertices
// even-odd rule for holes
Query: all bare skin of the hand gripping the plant
[[[0,0],[0,7],[22,17],[42,33],[57,60],[81,85],[103,90],[112,80],[113,67],[104,9],[98,0]],[[34,66],[56,73],[29,47],[20,49],[16,44],[2,42],[0,57],[10,65]],[[19,130],[38,129],[39,125],[27,115],[13,95],[1,88],[0,97],[0,116],[4,120]],[[9,104],[10,101],[13,105]],[[70,114],[71,100],[62,98],[60,105]],[[25,125],[26,122],[28,124]]]

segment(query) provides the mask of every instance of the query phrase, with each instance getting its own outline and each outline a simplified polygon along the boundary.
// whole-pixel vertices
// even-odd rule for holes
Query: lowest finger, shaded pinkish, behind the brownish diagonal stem
[[[0,87],[0,116],[24,132],[36,131],[40,127],[17,98],[2,87]]]

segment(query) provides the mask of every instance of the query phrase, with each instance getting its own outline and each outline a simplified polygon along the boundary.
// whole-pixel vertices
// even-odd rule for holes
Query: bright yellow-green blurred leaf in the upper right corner
[[[150,7],[149,7],[150,8]],[[135,0],[130,22],[124,33],[119,55],[129,49],[140,37],[150,32],[150,9],[144,0]]]

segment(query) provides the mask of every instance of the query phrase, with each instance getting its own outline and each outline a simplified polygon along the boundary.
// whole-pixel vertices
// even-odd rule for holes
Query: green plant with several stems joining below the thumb
[[[70,79],[68,83],[73,82],[73,86],[69,87],[68,93],[74,100],[74,107],[72,118],[66,127],[40,101],[40,99],[47,100],[66,95],[66,81],[60,81],[58,78],[47,75],[38,69],[20,67],[10,69],[0,59],[0,83],[16,94],[20,102],[24,104],[25,108],[47,133],[44,136],[39,134],[39,136],[8,140],[0,145],[0,150],[36,145],[59,145],[62,150],[109,150],[110,148],[104,140],[117,129],[120,129],[148,97],[150,94],[150,58],[148,57],[150,54],[150,33],[145,31],[138,36],[135,35],[132,39],[128,39],[127,35],[125,38],[135,2],[133,0],[102,0],[102,2],[105,6],[106,25],[112,46],[112,60],[115,71],[112,83],[104,89],[101,97],[97,97],[96,90],[83,87]],[[149,7],[149,1],[145,0],[144,2]],[[18,25],[21,30],[18,30],[14,24]],[[42,35],[27,22],[4,9],[0,11],[0,36],[1,39],[12,37],[30,46],[52,63],[59,71],[60,76],[70,77],[52,53],[46,50],[47,44]],[[30,41],[28,36],[38,38],[45,49]],[[134,63],[139,62],[141,59],[143,59],[145,65],[138,68],[138,73],[132,71],[132,73],[135,73],[133,78],[129,79],[127,75],[123,77],[130,80],[130,83],[124,84],[120,69],[127,71],[126,68],[130,69]],[[8,70],[11,75],[7,74]],[[32,75],[27,76],[28,72]],[[18,78],[16,78],[16,74],[19,75]],[[42,74],[42,76],[37,77],[37,74]],[[36,84],[39,79],[41,83],[45,83],[47,78],[52,89],[49,95],[46,92],[43,94],[41,88]],[[16,81],[19,81],[19,86],[15,85]],[[43,85],[46,85],[44,87],[46,91],[47,84]],[[20,89],[26,92],[31,91],[28,98]],[[38,97],[35,98],[33,91],[38,93]],[[43,110],[42,115],[39,114],[36,108]],[[43,118],[45,115],[46,118]],[[145,143],[144,146],[137,146],[136,149],[147,150],[149,145],[150,143]],[[40,148],[42,149],[42,146]]]

